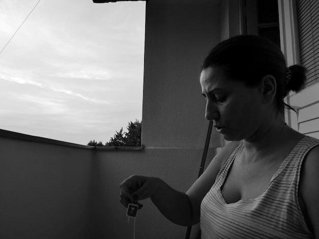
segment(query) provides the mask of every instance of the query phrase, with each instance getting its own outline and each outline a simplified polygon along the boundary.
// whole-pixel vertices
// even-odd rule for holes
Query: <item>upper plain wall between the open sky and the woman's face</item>
[[[143,144],[202,147],[208,122],[200,66],[220,41],[220,7],[151,3],[146,11]],[[219,141],[214,132],[211,146]]]

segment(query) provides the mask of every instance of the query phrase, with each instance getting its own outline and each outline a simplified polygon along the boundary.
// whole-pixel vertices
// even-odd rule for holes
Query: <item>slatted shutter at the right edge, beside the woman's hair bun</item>
[[[297,0],[300,63],[308,70],[306,87],[319,82],[319,2]]]

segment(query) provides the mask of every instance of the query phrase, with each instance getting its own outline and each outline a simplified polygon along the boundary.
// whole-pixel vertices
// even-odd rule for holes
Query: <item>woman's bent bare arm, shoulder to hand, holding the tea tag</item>
[[[158,210],[170,221],[182,226],[190,226],[200,220],[200,204],[215,182],[215,178],[238,142],[227,144],[208,165],[204,173],[187,193],[179,192],[156,177],[131,176],[120,186],[121,202],[125,206],[130,201],[151,198]]]

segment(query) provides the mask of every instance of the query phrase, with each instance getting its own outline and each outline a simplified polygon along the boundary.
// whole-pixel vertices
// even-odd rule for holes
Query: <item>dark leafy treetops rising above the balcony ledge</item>
[[[105,143],[105,146],[141,146],[142,121],[136,119],[135,122],[128,122],[126,129],[127,133],[123,133],[123,127],[119,132],[115,131],[114,137],[111,137],[110,141]],[[87,145],[104,146],[101,141],[97,143],[95,140],[91,140]]]

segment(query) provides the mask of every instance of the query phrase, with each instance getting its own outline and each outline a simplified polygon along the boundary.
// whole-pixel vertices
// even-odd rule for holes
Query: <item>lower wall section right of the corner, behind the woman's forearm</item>
[[[210,150],[208,162],[215,154]],[[187,191],[198,175],[202,149],[145,148],[143,151],[99,151],[96,161],[98,190],[95,196],[97,238],[133,238],[134,220],[127,223],[126,208],[119,202],[119,185],[132,174],[163,178],[179,191]],[[184,238],[187,227],[167,220],[151,200],[141,201],[136,218],[136,238]],[[199,226],[192,230],[196,238]]]

